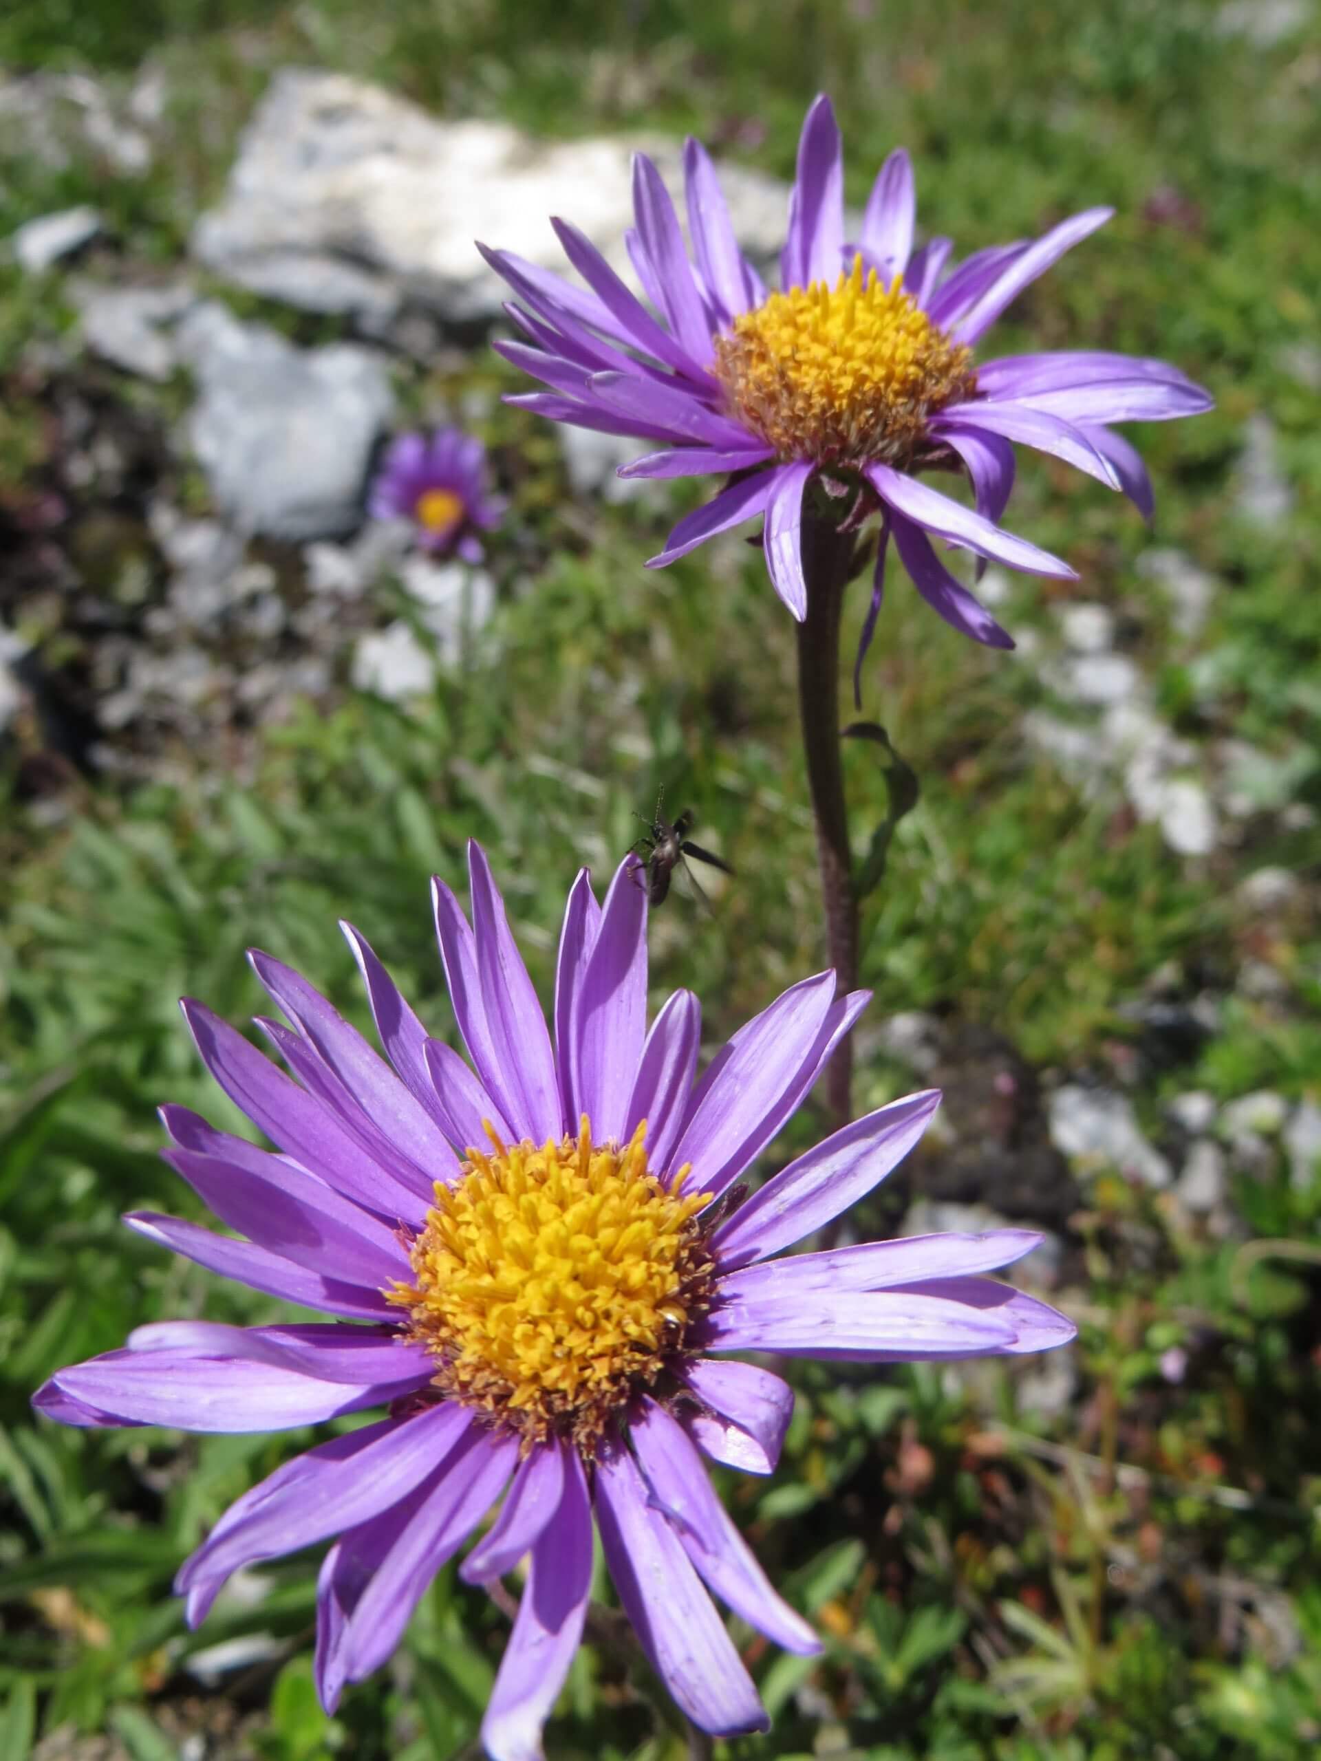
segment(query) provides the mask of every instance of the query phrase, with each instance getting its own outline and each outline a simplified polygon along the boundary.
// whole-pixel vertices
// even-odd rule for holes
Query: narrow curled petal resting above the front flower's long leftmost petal
[[[243,1358],[294,1370],[319,1382],[366,1388],[372,1382],[430,1382],[430,1352],[396,1328],[301,1323],[298,1326],[229,1326],[224,1321],[153,1321],[134,1328],[127,1351],[190,1352],[197,1358]]]

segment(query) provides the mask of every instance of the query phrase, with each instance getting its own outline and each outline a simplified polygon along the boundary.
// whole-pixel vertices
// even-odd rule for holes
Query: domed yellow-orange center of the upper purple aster
[[[715,338],[715,373],[733,416],[780,458],[819,465],[909,465],[926,421],[976,387],[972,350],[951,342],[861,257],[835,287],[770,294]]]

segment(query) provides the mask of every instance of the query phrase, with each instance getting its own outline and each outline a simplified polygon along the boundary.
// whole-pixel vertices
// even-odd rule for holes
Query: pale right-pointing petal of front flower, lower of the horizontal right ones
[[[823,1361],[923,1363],[1013,1349],[1015,1328],[939,1296],[911,1291],[800,1294],[729,1303],[705,1321],[706,1351],[782,1351]]]

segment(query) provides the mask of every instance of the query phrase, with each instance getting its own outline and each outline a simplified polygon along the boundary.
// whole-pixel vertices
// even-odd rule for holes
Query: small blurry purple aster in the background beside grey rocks
[[[486,495],[486,447],[460,428],[407,433],[391,442],[372,483],[377,519],[410,519],[423,549],[481,562],[479,532],[498,525],[504,507]]]

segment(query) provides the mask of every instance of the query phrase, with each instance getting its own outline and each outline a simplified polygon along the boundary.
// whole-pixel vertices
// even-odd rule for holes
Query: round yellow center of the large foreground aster
[[[676,1363],[710,1307],[697,1226],[708,1192],[666,1189],[632,1143],[469,1150],[412,1243],[414,1284],[389,1291],[435,1358],[435,1386],[528,1442],[571,1437],[590,1456],[639,1389]]]

